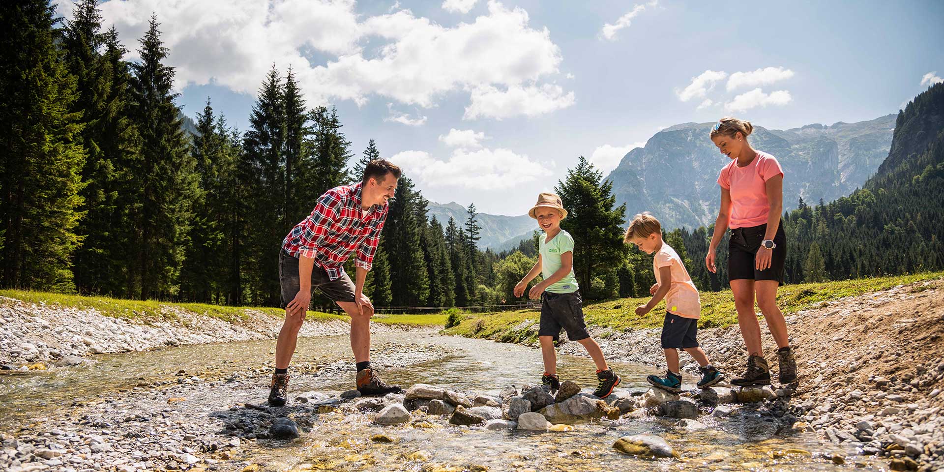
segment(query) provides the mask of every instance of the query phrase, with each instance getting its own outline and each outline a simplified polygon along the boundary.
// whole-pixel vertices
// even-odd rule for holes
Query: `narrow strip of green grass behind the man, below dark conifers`
[[[25,290],[0,290],[0,296],[15,298],[26,303],[55,305],[78,310],[90,310],[116,318],[148,320],[174,320],[180,314],[194,313],[212,316],[231,323],[248,320],[253,316],[282,317],[285,311],[278,308],[227,307],[204,303],[168,303],[154,300],[126,300],[106,296],[84,296],[32,292]],[[9,303],[2,301],[0,303]],[[385,314],[374,317],[374,322],[388,325],[434,326],[446,324],[445,314]],[[343,320],[346,315],[326,312],[308,312],[308,320]]]

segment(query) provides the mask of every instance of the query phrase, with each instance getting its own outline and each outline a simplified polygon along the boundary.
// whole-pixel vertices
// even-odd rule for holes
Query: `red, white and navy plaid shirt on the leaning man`
[[[362,184],[335,187],[318,198],[318,204],[282,240],[290,256],[313,259],[331,280],[345,272],[344,263],[357,251],[354,265],[370,270],[380,242],[380,229],[390,206],[374,205],[361,211]]]

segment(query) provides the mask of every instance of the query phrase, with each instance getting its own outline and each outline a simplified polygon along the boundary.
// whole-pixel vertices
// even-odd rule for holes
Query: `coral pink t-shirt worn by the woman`
[[[783,176],[777,158],[757,151],[757,157],[744,167],[737,160],[721,168],[717,184],[731,191],[731,221],[729,228],[750,228],[767,224],[770,202],[767,201],[767,179]]]

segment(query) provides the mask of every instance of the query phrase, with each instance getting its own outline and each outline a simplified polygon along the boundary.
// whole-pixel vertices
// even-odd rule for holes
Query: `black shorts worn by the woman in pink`
[[[786,235],[784,222],[777,227],[777,234],[773,237],[773,257],[770,267],[757,270],[754,267],[754,258],[757,250],[764,241],[767,225],[750,228],[733,228],[731,240],[728,242],[728,280],[747,278],[749,280],[777,280],[784,285],[784,261],[786,261]]]

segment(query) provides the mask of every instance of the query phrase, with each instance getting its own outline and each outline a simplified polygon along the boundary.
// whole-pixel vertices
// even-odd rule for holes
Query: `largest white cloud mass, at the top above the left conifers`
[[[74,3],[60,0],[59,14],[70,16]],[[447,93],[480,87],[516,91],[535,84],[531,87],[544,91],[546,86],[537,84],[557,75],[563,60],[547,27],[530,25],[525,9],[495,0],[474,22],[448,27],[408,9],[362,16],[355,7],[354,0],[99,5],[105,25],[115,25],[132,60],[138,59],[138,39],[151,13],[157,14],[161,40],[170,49],[166,63],[177,69],[177,90],[212,82],[254,94],[275,63],[279,70],[292,67],[312,106],[336,100],[360,106],[379,96],[426,108]],[[368,42],[371,47],[365,48]]]

